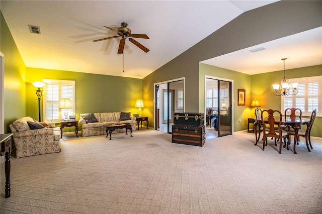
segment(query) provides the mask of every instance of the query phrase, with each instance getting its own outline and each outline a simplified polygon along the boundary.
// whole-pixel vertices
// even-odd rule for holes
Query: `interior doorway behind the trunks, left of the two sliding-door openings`
[[[172,134],[174,113],[185,111],[185,78],[154,83],[155,130]]]

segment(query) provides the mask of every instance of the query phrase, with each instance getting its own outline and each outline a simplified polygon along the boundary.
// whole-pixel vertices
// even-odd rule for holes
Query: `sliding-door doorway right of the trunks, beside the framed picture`
[[[205,77],[205,115],[207,136],[222,137],[233,132],[233,80]],[[209,109],[211,113],[209,114]]]

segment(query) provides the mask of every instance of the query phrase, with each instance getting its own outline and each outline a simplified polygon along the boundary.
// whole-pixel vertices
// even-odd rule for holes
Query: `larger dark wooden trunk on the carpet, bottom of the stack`
[[[206,142],[206,127],[172,126],[172,143],[202,146]]]

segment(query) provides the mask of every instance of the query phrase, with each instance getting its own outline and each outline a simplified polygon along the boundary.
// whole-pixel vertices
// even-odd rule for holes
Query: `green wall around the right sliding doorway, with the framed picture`
[[[233,131],[247,129],[247,119],[251,116],[251,75],[199,63],[199,112],[205,111],[205,76],[219,77],[233,81]],[[245,105],[238,105],[237,89],[245,89]],[[253,116],[252,116],[253,117]],[[239,118],[241,122],[239,123]]]

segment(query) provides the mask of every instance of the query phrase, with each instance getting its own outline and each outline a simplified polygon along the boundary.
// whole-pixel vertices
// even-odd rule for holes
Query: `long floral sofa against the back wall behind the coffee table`
[[[136,130],[136,118],[131,117],[130,112],[110,112],[81,114],[79,123],[82,124],[82,137],[106,135],[104,125],[115,124],[116,122],[132,123],[132,131]],[[114,132],[125,132],[126,129],[116,129]],[[114,133],[113,132],[113,133]]]

